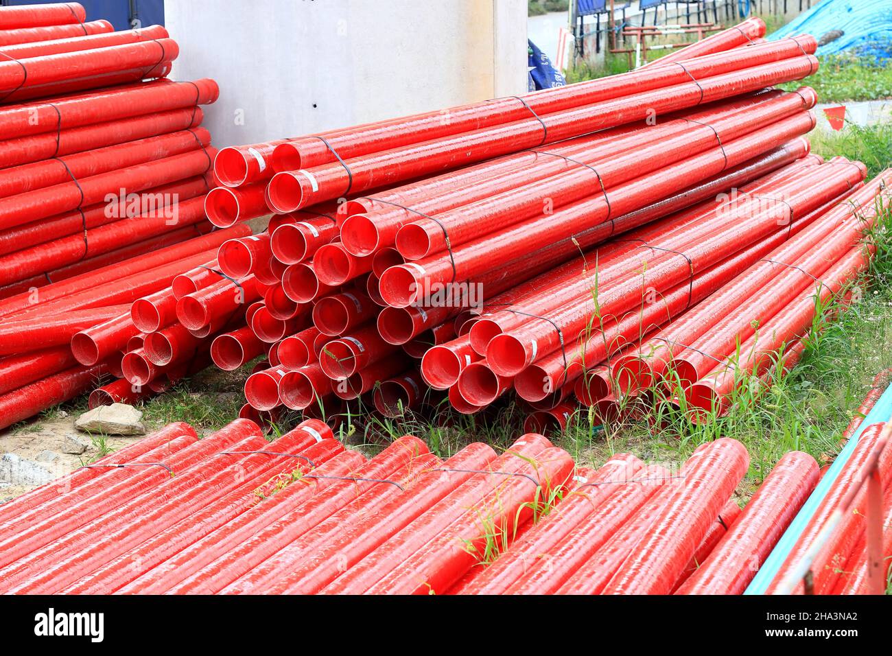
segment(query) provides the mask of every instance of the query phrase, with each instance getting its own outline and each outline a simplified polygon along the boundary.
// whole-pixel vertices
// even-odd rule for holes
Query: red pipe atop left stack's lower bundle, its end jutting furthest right
[[[193,82],[155,80],[124,87],[72,95],[52,103],[28,103],[0,107],[0,139],[52,133],[55,140],[59,117],[65,129],[149,115],[217,100],[219,87],[212,79]],[[113,128],[106,128],[112,129]],[[127,139],[125,139],[127,140]]]

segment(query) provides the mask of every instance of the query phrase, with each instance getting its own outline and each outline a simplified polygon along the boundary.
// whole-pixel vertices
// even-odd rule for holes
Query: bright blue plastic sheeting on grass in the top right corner
[[[819,46],[817,54],[892,57],[892,0],[822,0],[768,38],[811,34],[820,41],[833,30],[843,35]]]

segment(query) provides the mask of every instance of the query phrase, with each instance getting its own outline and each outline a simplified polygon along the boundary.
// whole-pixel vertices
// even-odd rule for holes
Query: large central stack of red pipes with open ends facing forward
[[[764,34],[758,21],[742,29]],[[219,252],[222,270],[263,289],[252,327],[271,345],[270,366],[246,382],[248,403],[303,410],[367,394],[392,414],[430,386],[476,412],[514,389],[528,428],[543,429],[566,423],[574,392],[607,416],[621,396],[648,391],[648,381],[616,386],[616,361],[659,328],[694,321],[706,297],[739,294],[755,270],[788,265],[775,281],[781,300],[814,294],[811,278],[790,282],[796,262],[762,261],[786,256],[788,241],[814,243],[813,224],[827,228],[836,203],[879,183],[859,191],[863,165],[808,155],[812,89],[764,88],[814,72],[814,39],[751,43],[743,32],[716,35],[683,63],[519,102],[221,150],[211,221],[275,214]],[[848,230],[823,256],[836,276],[825,295],[863,268],[847,253],[854,239]],[[779,350],[793,366],[805,315],[780,309],[786,332],[740,369],[764,374]],[[226,343],[235,355],[220,342],[224,368],[241,361]],[[695,392],[714,385],[708,400],[724,410],[734,378],[714,373]]]

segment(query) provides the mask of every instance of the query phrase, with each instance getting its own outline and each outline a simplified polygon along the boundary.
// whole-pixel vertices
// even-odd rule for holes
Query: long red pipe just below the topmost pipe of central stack
[[[747,52],[756,51],[759,47],[762,46],[747,48]],[[802,54],[800,46],[792,40],[787,47]],[[548,130],[544,140],[543,123],[537,119],[527,119],[499,128],[446,137],[442,141],[357,157],[346,162],[352,173],[352,183],[340,162],[336,166],[326,164],[312,170],[285,171],[277,173],[270,180],[269,202],[277,212],[293,212],[343,195],[348,184],[351,184],[351,191],[358,192],[430,175],[439,170],[457,168],[463,164],[613,127],[619,122],[644,120],[651,112],[674,112],[779,82],[802,79],[814,72],[817,65],[817,59],[813,55],[794,57],[756,66],[747,71],[698,79],[697,82],[689,77],[688,82],[675,87],[549,114],[540,117]]]

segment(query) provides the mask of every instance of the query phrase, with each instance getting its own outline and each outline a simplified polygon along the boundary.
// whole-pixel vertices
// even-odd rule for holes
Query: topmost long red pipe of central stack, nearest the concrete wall
[[[318,136],[296,138],[279,146],[274,155],[275,166],[279,171],[310,168],[319,170],[322,168],[321,165],[326,162],[336,162],[335,154],[331,149],[337,151],[339,156],[346,160],[359,159],[362,155],[389,149],[403,147],[409,150],[409,145],[430,144],[434,140],[446,140],[453,136],[466,137],[474,131],[483,132],[487,129],[496,131],[507,123],[519,123],[529,119],[531,113],[543,118],[545,122],[549,122],[556,112],[566,112],[580,106],[603,103],[633,93],[683,84],[690,81],[691,77],[700,79],[707,75],[714,76],[723,72],[751,68],[759,63],[776,62],[785,56],[803,54],[805,50],[814,53],[816,46],[814,39],[799,38],[802,44],[801,46],[797,44],[795,48],[787,47],[787,45],[775,48],[763,46],[757,52],[756,48],[750,48],[747,49],[751,51],[748,53],[723,53],[721,58],[706,57],[696,62],[688,62],[687,68],[690,75],[683,75],[682,73],[685,71],[681,71],[681,67],[677,70],[669,68],[659,71],[657,75],[642,75],[632,71],[623,75],[610,76],[610,79],[591,80],[569,87],[552,88],[527,94],[523,99],[498,98],[485,103],[453,107],[442,112],[417,114],[402,119],[338,130],[334,133],[323,133],[325,139]],[[768,85],[760,85],[760,87],[764,86]],[[443,120],[444,115],[449,120]],[[549,123],[550,132],[551,125]],[[549,140],[555,141],[559,138],[564,137]],[[540,142],[541,134],[533,145]],[[355,190],[357,187],[353,188]]]

